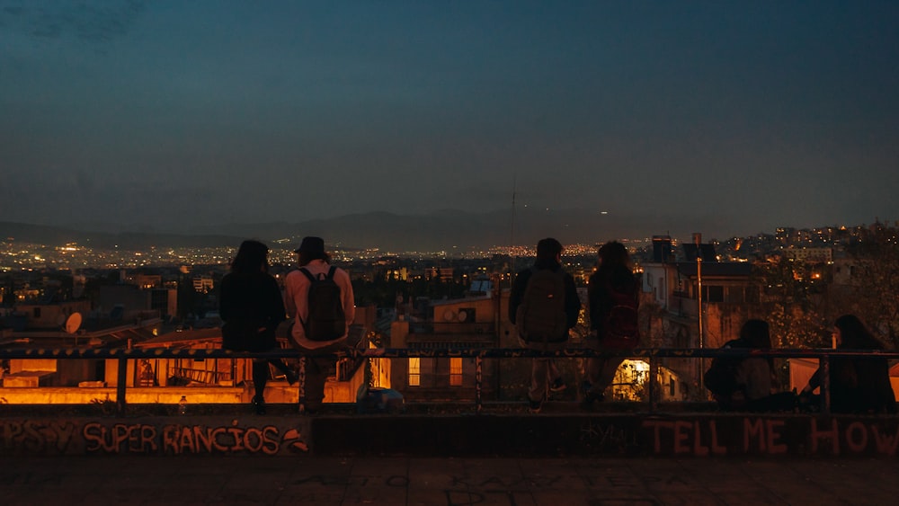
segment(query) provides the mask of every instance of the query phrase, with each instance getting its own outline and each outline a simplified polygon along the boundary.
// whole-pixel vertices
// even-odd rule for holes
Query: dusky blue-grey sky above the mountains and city
[[[0,0],[0,176],[40,225],[896,220],[899,2]]]

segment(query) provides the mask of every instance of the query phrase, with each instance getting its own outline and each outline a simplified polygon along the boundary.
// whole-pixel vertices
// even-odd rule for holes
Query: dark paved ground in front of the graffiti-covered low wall
[[[15,457],[4,504],[891,504],[895,459]]]

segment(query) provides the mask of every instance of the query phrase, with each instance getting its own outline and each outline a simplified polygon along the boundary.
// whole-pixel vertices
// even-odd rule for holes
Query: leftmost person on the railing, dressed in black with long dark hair
[[[269,274],[269,248],[247,240],[240,244],[231,262],[231,271],[222,279],[219,293],[219,315],[222,325],[222,347],[232,351],[269,351],[278,347],[275,329],[286,318],[278,281]],[[265,385],[269,365],[278,368],[290,385],[297,373],[280,359],[253,360],[253,408],[265,413]]]

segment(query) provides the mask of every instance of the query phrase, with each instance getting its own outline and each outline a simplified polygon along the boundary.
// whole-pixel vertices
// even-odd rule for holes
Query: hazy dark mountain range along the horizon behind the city
[[[595,244],[610,239],[637,239],[658,234],[689,237],[692,231],[723,229],[721,223],[703,218],[675,218],[670,214],[603,215],[595,211],[519,209],[472,213],[442,210],[423,215],[387,212],[352,214],[299,223],[269,222],[193,226],[178,233],[147,231],[146,226],[109,225],[59,227],[0,222],[0,237],[38,244],[78,243],[93,248],[147,249],[156,247],[234,246],[246,238],[259,239],[270,247],[299,243],[304,235],[318,235],[327,244],[344,248],[378,248],[383,252],[437,252],[484,250],[496,245],[536,244],[540,238],[556,237],[563,244]],[[680,224],[680,227],[672,226]],[[686,224],[686,226],[684,226]],[[703,228],[705,227],[705,228]],[[757,232],[753,231],[752,233]],[[712,235],[706,235],[711,238]],[[721,237],[725,238],[725,237]]]

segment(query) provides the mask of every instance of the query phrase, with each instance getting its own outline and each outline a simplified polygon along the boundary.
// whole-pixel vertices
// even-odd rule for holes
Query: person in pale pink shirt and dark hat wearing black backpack
[[[350,275],[332,266],[321,237],[303,237],[296,250],[299,269],[284,280],[284,304],[293,318],[291,342],[306,357],[305,397],[308,413],[325,400],[325,380],[334,357],[316,356],[343,351],[355,316]]]

